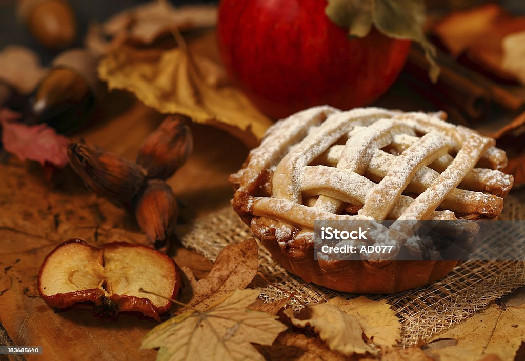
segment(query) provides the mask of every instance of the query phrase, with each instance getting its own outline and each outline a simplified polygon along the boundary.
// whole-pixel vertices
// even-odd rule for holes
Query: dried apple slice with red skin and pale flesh
[[[80,239],[66,241],[48,254],[38,274],[38,292],[51,307],[92,301],[98,312],[142,312],[157,321],[172,302],[139,289],[173,299],[180,286],[180,271],[171,258],[128,242],[97,248]]]

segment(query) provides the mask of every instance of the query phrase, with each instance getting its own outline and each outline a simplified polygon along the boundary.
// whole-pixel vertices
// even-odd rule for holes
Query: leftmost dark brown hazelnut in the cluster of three
[[[126,207],[145,184],[145,171],[124,157],[83,143],[71,143],[69,162],[93,192]]]

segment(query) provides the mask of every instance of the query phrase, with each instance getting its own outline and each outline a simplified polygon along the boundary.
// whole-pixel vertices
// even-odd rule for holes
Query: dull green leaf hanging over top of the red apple
[[[348,27],[351,37],[364,37],[375,26],[382,34],[396,39],[409,39],[421,44],[430,63],[428,77],[439,76],[436,49],[423,32],[423,0],[328,0],[326,15],[335,24]]]

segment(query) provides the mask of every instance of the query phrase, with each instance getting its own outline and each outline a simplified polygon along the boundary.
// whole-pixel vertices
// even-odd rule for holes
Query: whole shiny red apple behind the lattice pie
[[[366,105],[397,78],[409,40],[373,29],[349,39],[324,13],[325,0],[222,0],[220,54],[230,75],[264,113]]]

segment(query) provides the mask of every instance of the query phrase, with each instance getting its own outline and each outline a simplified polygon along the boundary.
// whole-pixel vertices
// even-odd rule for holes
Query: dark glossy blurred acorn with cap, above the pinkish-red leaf
[[[86,49],[71,49],[55,58],[52,66],[30,101],[26,119],[69,133],[86,123],[103,95],[98,58]]]

